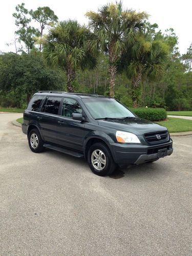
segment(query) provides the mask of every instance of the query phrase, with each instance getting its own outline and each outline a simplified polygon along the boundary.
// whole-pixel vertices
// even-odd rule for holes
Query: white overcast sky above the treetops
[[[3,1],[0,9],[0,51],[15,51],[14,46],[6,46],[6,43],[13,42],[14,31],[17,29],[14,24],[12,13],[15,6],[25,3],[27,9],[37,9],[41,6],[49,6],[59,20],[77,19],[80,24],[88,24],[84,16],[87,11],[97,11],[102,5],[115,2],[110,0],[7,0]],[[124,0],[124,8],[132,8],[136,11],[145,11],[150,14],[149,21],[157,23],[159,29],[164,31],[173,28],[179,38],[179,51],[181,54],[187,51],[192,42],[191,30],[191,0]]]

